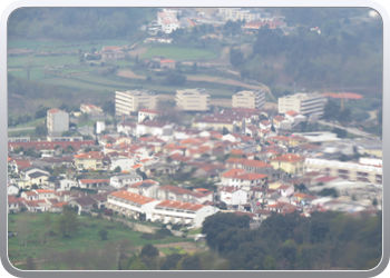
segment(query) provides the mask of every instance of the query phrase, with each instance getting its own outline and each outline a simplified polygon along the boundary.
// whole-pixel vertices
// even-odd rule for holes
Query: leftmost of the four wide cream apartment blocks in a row
[[[130,115],[143,108],[156,109],[158,95],[147,90],[116,91],[115,112],[116,115]]]

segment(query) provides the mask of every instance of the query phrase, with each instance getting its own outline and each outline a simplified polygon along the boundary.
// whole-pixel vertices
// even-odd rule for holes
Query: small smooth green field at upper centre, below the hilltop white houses
[[[212,60],[218,58],[220,54],[212,50],[197,48],[148,48],[147,52],[140,58],[150,59],[154,56],[163,56],[165,59],[173,59],[178,61],[186,60]]]

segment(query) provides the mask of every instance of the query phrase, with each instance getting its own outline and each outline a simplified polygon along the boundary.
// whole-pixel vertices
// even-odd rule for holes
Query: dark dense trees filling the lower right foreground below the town
[[[382,212],[352,217],[341,212],[272,212],[259,229],[247,216],[206,218],[207,245],[234,270],[371,269],[382,255]]]

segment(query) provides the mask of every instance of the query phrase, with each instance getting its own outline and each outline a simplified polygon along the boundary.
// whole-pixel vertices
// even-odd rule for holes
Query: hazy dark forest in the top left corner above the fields
[[[9,39],[129,39],[153,8],[19,8],[8,20]]]

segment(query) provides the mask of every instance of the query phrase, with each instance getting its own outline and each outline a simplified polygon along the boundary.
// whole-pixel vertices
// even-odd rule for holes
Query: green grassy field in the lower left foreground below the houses
[[[69,249],[78,249],[84,251],[88,250],[101,250],[107,241],[117,241],[121,239],[130,240],[135,246],[144,246],[147,244],[173,244],[183,241],[193,241],[193,239],[182,237],[166,237],[158,240],[147,240],[140,238],[142,232],[133,231],[130,228],[123,224],[111,222],[105,219],[97,219],[95,217],[81,217],[79,216],[80,227],[77,235],[69,238],[64,238],[61,235],[57,235],[58,231],[52,228],[56,234],[49,237],[48,245],[46,240],[46,228],[43,225],[43,214],[29,214],[30,216],[30,232],[28,234],[27,247],[19,245],[19,236],[10,238],[8,240],[8,255],[11,261],[26,260],[28,256],[32,258],[41,258],[47,250],[55,249],[56,251],[65,251]],[[18,220],[20,220],[21,214],[8,216],[8,230],[18,232]],[[52,220],[55,221],[59,215],[51,214]],[[108,239],[101,240],[98,231],[100,229],[107,229]]]

